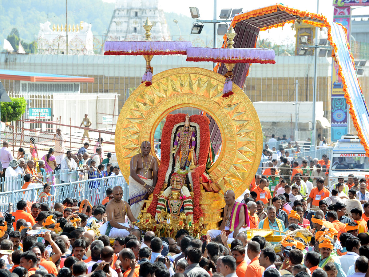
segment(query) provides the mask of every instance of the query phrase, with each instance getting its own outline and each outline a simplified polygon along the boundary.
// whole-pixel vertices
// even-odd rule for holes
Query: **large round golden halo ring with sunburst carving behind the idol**
[[[260,163],[262,130],[254,106],[237,85],[233,85],[234,95],[222,98],[224,82],[225,77],[214,71],[183,67],[154,75],[151,86],[139,85],[122,107],[115,130],[115,151],[124,178],[128,180],[130,159],[142,141],[151,142],[155,156],[154,134],[161,120],[173,110],[194,107],[210,114],[221,132],[221,153],[210,169],[211,179],[223,191],[233,189],[236,197],[241,195]]]

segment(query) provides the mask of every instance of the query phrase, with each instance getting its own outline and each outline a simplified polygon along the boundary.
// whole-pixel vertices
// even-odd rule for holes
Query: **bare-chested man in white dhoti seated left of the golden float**
[[[106,215],[108,221],[100,228],[101,235],[109,237],[125,237],[128,236],[133,228],[130,228],[128,222],[125,221],[125,216],[131,222],[137,221],[132,215],[130,205],[122,200],[123,189],[120,186],[113,188],[113,200],[106,205]]]

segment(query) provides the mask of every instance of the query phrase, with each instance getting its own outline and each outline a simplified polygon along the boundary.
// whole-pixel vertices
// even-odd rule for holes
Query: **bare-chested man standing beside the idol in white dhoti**
[[[154,191],[158,180],[158,161],[150,155],[151,144],[142,141],[141,153],[134,155],[130,162],[131,174],[128,178],[131,211],[135,218],[144,205],[145,199]]]

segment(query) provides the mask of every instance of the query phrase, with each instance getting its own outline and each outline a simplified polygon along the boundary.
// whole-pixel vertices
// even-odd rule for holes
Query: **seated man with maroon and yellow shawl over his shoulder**
[[[224,215],[219,230],[208,230],[207,235],[214,238],[225,230],[228,236],[228,243],[235,239],[239,232],[246,230],[243,226],[249,224],[249,215],[245,204],[236,202],[234,191],[229,189],[224,193]]]

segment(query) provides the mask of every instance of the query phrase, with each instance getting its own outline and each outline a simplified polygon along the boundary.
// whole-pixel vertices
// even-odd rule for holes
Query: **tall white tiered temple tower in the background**
[[[142,25],[147,17],[153,25],[152,40],[169,40],[168,25],[158,0],[117,0],[106,40],[144,40]]]

